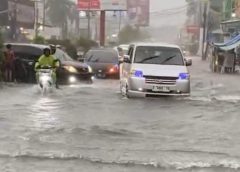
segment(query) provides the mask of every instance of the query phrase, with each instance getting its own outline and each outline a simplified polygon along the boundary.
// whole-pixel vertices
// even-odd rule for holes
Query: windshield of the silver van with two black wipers
[[[136,48],[135,63],[184,65],[183,56],[178,48],[139,46]]]

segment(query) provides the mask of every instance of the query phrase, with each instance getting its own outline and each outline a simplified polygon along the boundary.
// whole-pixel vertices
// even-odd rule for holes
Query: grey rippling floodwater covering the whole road
[[[0,171],[240,171],[240,76],[193,62],[188,98],[125,99],[116,80],[4,86]]]

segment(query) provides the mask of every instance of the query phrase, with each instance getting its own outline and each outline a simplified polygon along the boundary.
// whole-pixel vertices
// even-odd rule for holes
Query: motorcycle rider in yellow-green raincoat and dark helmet
[[[52,72],[52,78],[53,83],[56,83],[56,68],[59,67],[56,63],[56,60],[53,55],[51,55],[50,48],[44,48],[43,49],[43,55],[38,59],[38,62],[35,64],[35,71],[36,71],[36,79],[37,82],[39,81],[39,72],[38,69],[41,69],[42,67],[48,67],[50,66],[53,69]]]

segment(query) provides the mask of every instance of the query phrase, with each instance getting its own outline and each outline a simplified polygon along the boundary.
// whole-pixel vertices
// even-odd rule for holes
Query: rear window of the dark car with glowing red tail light
[[[87,62],[118,63],[117,51],[92,51],[87,53]]]

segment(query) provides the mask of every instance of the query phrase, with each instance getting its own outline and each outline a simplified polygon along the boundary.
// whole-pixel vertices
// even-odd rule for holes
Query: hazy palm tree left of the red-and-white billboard
[[[76,5],[70,0],[47,0],[46,10],[53,25],[62,29],[62,38],[68,33],[68,21],[73,20],[73,9]]]

